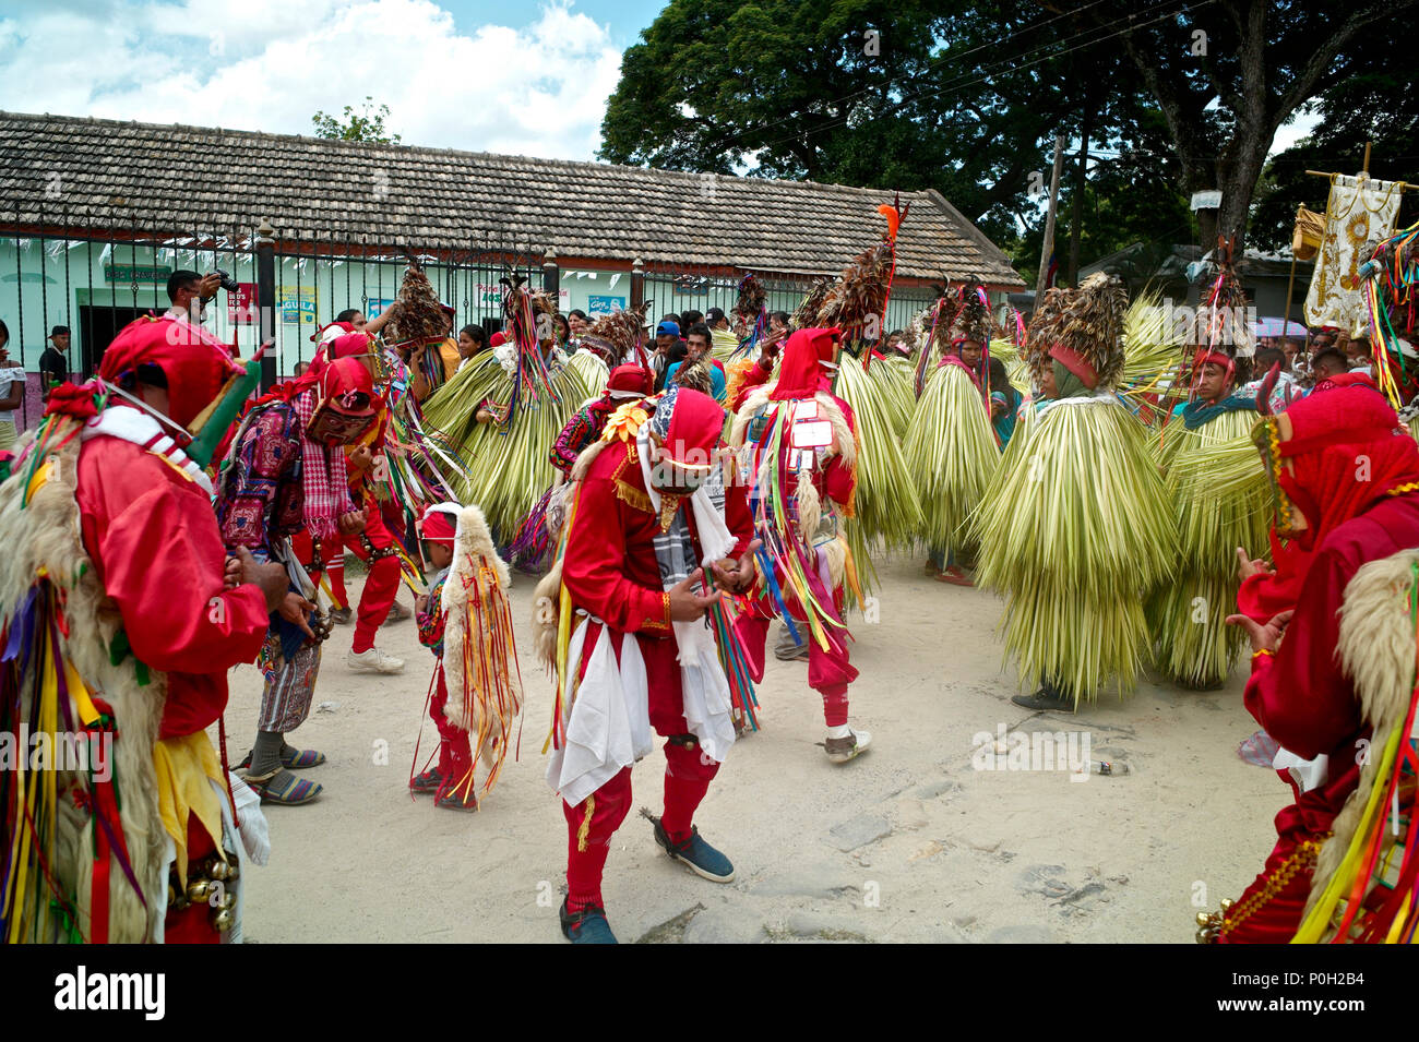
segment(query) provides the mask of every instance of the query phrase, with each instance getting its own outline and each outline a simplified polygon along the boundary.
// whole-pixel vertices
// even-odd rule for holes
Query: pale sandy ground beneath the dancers
[[[878,621],[850,620],[851,716],[871,751],[829,764],[806,665],[771,656],[762,730],[735,746],[695,818],[736,880],[673,863],[633,812],[603,890],[620,940],[1192,943],[1198,907],[1236,897],[1260,870],[1288,798],[1271,771],[1237,758],[1254,730],[1243,673],[1212,693],[1145,679],[1077,716],[1030,713],[1009,702],[993,595],[931,581],[915,561],[878,570]],[[512,588],[521,758],[477,814],[407,792],[420,730],[420,763],[437,744],[424,717],[433,658],[413,622],[379,638],[406,659],[397,676],[350,673],[350,629],[336,628],[315,692],[328,706],[291,737],[329,757],[308,773],[325,791],[267,807],[272,853],[247,873],[248,940],[562,943],[566,829],[543,780],[552,689],[526,644],[532,586],[518,574]],[[233,761],[250,747],[260,690],[254,668],[233,673]],[[1130,771],[978,770],[973,737],[1002,726],[1083,732],[1093,760]],[[637,807],[660,812],[663,771],[658,749],[636,766]]]

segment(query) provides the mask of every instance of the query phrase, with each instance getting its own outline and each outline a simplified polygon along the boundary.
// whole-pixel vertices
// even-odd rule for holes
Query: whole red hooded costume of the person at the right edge
[[[1243,583],[1239,603],[1263,622],[1296,614],[1274,654],[1253,655],[1244,700],[1283,749],[1328,761],[1324,781],[1304,792],[1281,774],[1296,801],[1276,815],[1266,869],[1226,913],[1219,940],[1233,944],[1286,943],[1300,926],[1315,846],[1357,787],[1369,737],[1335,655],[1345,587],[1361,566],[1419,546],[1419,447],[1378,391],[1321,390],[1266,424],[1286,496],[1277,527],[1293,542],[1274,574]]]

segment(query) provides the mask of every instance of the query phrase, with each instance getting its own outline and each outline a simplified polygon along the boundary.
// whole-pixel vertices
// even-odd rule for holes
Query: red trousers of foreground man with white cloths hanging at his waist
[[[600,627],[599,622],[587,625]],[[612,634],[616,654],[620,656],[622,641],[639,639],[640,654],[646,661],[646,679],[650,686],[650,724],[657,734],[678,737],[690,733],[685,723],[684,702],[680,690],[680,665],[675,662],[673,639],[637,638],[627,634]],[[586,637],[585,661],[595,646],[596,632]],[[698,744],[666,743],[666,809],[660,824],[674,842],[690,838],[690,825],[695,809],[710,791],[710,781],[719,771],[719,764],[705,763]],[[568,907],[578,912],[589,904],[602,906],[602,872],[606,855],[610,853],[612,835],[626,821],[630,812],[630,767],[622,768],[616,777],[592,792],[576,807],[562,801],[566,817],[566,887]]]

